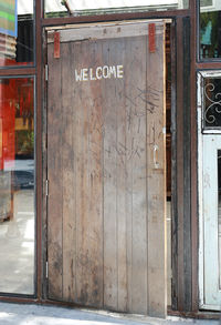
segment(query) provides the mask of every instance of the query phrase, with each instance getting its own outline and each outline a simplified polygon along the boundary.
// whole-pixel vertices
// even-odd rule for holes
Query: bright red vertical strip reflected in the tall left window
[[[0,82],[1,154],[0,170],[14,163],[15,126],[15,80],[1,79]]]

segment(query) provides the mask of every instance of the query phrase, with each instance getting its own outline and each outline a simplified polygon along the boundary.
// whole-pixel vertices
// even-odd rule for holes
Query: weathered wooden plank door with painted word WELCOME
[[[50,31],[48,64],[49,298],[165,316],[165,23]]]

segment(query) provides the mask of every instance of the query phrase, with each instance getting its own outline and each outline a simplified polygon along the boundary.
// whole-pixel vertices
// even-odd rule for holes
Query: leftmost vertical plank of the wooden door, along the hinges
[[[48,177],[50,186],[48,205],[48,247],[49,247],[49,296],[61,299],[63,293],[63,181],[62,181],[62,111],[61,111],[61,60],[53,60],[53,45],[49,45],[49,115],[48,115]],[[59,80],[57,80],[59,79]]]

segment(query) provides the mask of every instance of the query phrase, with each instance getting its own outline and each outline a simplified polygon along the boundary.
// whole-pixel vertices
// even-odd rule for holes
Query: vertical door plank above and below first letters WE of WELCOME
[[[74,47],[74,44],[73,44]],[[78,68],[78,60],[81,65],[87,64],[88,45],[76,44],[74,47],[75,52],[75,69]],[[88,272],[91,267],[91,255],[87,247],[87,219],[88,219],[88,98],[87,98],[87,84],[81,83],[78,93],[75,93],[74,106],[76,108],[78,118],[78,134],[77,139],[77,170],[76,170],[76,228],[77,228],[77,242],[76,242],[76,285],[77,285],[77,302],[82,304],[88,304]]]

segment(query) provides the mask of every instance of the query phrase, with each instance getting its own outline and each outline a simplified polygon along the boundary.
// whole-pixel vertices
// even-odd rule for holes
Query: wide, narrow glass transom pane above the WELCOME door
[[[189,8],[189,0],[44,0],[45,17]]]

